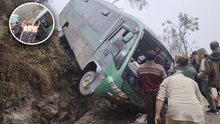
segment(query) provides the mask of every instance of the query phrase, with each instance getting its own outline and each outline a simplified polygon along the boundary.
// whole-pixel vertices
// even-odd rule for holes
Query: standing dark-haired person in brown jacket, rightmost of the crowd
[[[219,72],[219,60],[220,60],[220,49],[219,43],[213,41],[210,43],[210,49],[212,50],[211,55],[205,55],[204,60],[204,70],[199,74],[199,77],[204,79],[208,77],[208,82],[205,83],[205,89],[207,89],[206,96],[209,97],[209,104],[211,109],[206,111],[207,114],[218,114],[219,106],[214,102],[214,97],[212,95],[211,89],[207,87],[220,89],[220,72]]]

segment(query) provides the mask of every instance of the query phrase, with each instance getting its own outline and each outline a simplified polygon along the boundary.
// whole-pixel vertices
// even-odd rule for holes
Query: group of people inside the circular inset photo
[[[38,21],[38,24],[35,21],[33,23],[31,21],[23,21],[22,24],[15,22],[11,29],[19,40],[26,43],[36,43],[36,36],[40,24],[40,21]]]

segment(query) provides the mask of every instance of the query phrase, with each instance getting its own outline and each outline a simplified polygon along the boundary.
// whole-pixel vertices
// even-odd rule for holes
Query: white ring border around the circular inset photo
[[[52,30],[51,30],[50,34],[47,36],[47,38],[45,38],[43,41],[40,41],[40,42],[37,42],[37,43],[26,43],[26,42],[23,42],[23,41],[21,41],[20,39],[18,39],[18,38],[14,35],[14,33],[12,32],[12,30],[11,30],[10,20],[11,20],[11,17],[12,17],[12,15],[13,15],[13,13],[14,13],[18,8],[20,8],[20,7],[22,7],[22,6],[25,6],[25,5],[27,5],[27,4],[37,4],[37,5],[40,5],[40,6],[44,7],[45,9],[47,9],[47,10],[49,11],[49,13],[51,14],[51,16],[52,16],[52,19],[53,19],[53,27],[52,27]],[[54,20],[54,16],[53,16],[52,12],[51,12],[46,6],[44,6],[44,5],[42,5],[42,4],[39,4],[39,3],[35,3],[35,2],[28,2],[28,3],[24,3],[24,4],[21,4],[20,6],[18,6],[18,7],[11,13],[11,16],[10,16],[10,18],[9,18],[8,23],[9,23],[10,32],[11,32],[11,34],[15,37],[15,39],[18,40],[19,42],[21,42],[21,43],[23,43],[23,44],[27,44],[27,45],[38,45],[38,44],[40,44],[40,43],[43,43],[44,41],[46,41],[46,40],[52,35],[52,33],[53,33],[53,31],[54,31],[54,27],[55,27],[55,20]]]

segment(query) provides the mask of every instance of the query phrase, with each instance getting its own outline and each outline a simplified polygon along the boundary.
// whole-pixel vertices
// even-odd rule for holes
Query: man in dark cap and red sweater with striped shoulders
[[[156,97],[159,90],[159,85],[163,79],[167,77],[167,75],[163,66],[154,63],[154,60],[157,56],[155,51],[149,50],[147,51],[146,55],[148,61],[140,65],[140,67],[137,69],[137,81],[144,96],[147,123],[155,124],[154,117]],[[163,110],[164,111],[161,113],[163,120],[162,124],[165,124],[165,109]]]

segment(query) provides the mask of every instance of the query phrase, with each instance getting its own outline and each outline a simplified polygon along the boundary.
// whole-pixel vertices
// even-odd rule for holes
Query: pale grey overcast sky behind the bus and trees
[[[50,9],[55,18],[69,0],[53,0]],[[106,0],[113,3],[114,0]],[[162,35],[162,23],[167,19],[174,24],[178,23],[180,12],[189,16],[198,17],[199,31],[192,32],[188,41],[198,41],[198,48],[205,48],[211,53],[209,44],[211,41],[220,41],[220,0],[147,0],[148,9],[139,11],[132,8],[128,0],[119,0],[115,5],[130,15],[139,18],[156,34]],[[58,21],[57,26],[59,25]],[[196,50],[196,49],[194,49]]]

